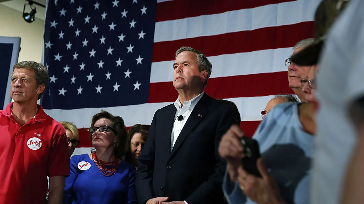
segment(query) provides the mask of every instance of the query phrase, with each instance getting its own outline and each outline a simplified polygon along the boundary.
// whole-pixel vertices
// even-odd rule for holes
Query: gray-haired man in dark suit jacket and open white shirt
[[[240,119],[232,106],[203,91],[211,66],[198,50],[177,50],[173,85],[178,99],[156,111],[138,158],[140,204],[224,202],[226,163],[217,149],[222,135]]]

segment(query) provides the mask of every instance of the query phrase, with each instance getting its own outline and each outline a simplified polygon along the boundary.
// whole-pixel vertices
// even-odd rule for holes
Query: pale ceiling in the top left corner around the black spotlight
[[[32,0],[35,1],[37,3],[46,5],[46,0]],[[24,4],[28,4],[28,1],[26,0],[0,0],[0,5],[4,5],[6,7],[15,9],[17,11],[20,11],[21,13],[23,13],[23,8],[24,8]],[[35,17],[37,19],[41,19],[41,20],[45,20],[46,19],[46,8],[43,8],[39,5],[33,4],[32,7],[35,7],[37,10],[37,13],[35,14]],[[27,5],[25,7],[25,12],[29,13],[31,11],[29,5]]]

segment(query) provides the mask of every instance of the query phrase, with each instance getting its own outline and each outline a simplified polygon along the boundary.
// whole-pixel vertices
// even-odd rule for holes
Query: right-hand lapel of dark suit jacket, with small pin
[[[181,133],[178,135],[178,138],[173,146],[171,156],[175,154],[178,148],[181,146],[183,141],[187,138],[190,132],[197,126],[198,123],[202,121],[202,119],[206,116],[208,110],[206,108],[206,100],[210,97],[205,93],[202,98],[198,101],[196,106],[194,107],[191,115],[187,119],[185,125],[183,126]]]

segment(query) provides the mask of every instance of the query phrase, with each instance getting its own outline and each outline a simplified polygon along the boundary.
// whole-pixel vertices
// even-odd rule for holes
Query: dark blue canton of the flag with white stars
[[[44,109],[148,102],[157,2],[50,0]]]

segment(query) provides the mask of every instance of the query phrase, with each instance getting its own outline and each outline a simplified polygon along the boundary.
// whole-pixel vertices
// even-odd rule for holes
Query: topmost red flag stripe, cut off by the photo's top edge
[[[278,4],[295,0],[248,0],[248,1],[222,1],[222,0],[175,0],[165,1],[157,5],[157,22],[184,19],[201,15],[211,15],[227,11],[260,7],[268,4]],[[186,5],[193,5],[186,7]],[[187,12],[186,12],[187,11]]]

